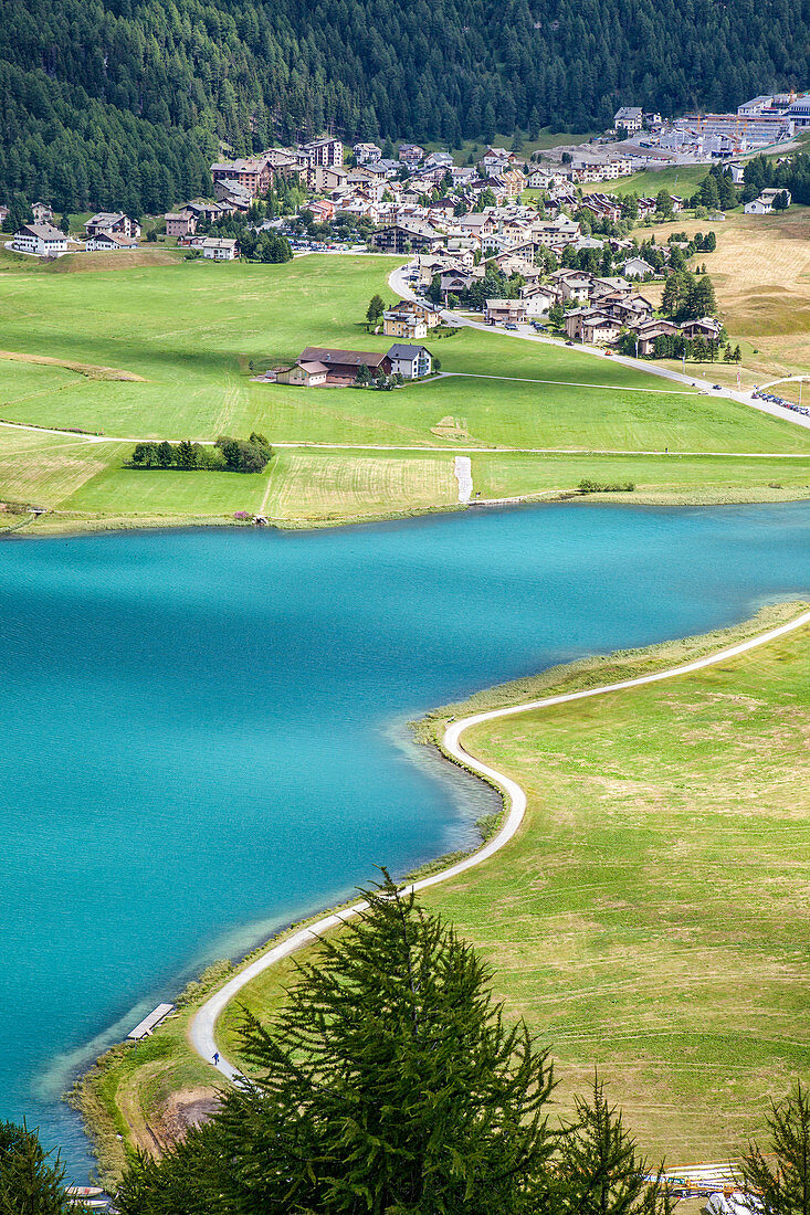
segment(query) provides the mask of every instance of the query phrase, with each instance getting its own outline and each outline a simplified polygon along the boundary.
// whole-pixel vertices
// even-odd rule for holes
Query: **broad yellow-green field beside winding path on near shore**
[[[451,706],[459,716],[687,661],[793,618],[591,660]],[[595,1064],[654,1153],[736,1154],[806,1072],[808,631],[663,685],[478,727],[465,746],[529,795],[479,870],[423,895],[552,1045],[569,1108]],[[429,723],[440,733],[446,711]],[[291,970],[238,1002],[266,1017]],[[238,1050],[238,1008],[219,1034]]]

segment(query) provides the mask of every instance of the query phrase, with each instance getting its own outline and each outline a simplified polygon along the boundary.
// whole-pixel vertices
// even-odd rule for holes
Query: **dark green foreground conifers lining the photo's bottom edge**
[[[303,962],[270,1024],[243,1010],[248,1079],[162,1158],[136,1152],[120,1215],[670,1215],[595,1074],[553,1117],[549,1049],[507,1025],[476,951],[384,881],[353,927]],[[810,1095],[772,1103],[743,1191],[810,1215]],[[0,1126],[0,1215],[67,1215],[64,1170]]]

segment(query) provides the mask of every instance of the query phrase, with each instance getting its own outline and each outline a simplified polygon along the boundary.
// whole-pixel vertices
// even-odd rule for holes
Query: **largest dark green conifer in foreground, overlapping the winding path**
[[[387,876],[367,899],[269,1028],[244,1016],[254,1079],[162,1162],[133,1164],[122,1215],[545,1205],[547,1052],[504,1025],[486,967],[440,919]]]

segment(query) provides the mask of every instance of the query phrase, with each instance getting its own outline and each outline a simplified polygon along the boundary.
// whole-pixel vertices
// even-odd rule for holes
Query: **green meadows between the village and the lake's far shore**
[[[163,265],[162,253],[148,250],[144,261],[139,250],[133,265],[124,260],[118,269],[81,273],[17,264],[0,272],[0,419],[130,442],[212,440],[258,429],[271,442],[359,450],[332,452],[331,468],[327,457],[299,452],[296,459],[279,456],[269,475],[187,476],[125,469],[129,447],[95,445],[85,452],[62,448],[61,436],[46,443],[34,434],[19,471],[19,433],[0,429],[0,497],[19,501],[26,490],[30,501],[73,513],[81,525],[88,515],[182,520],[263,507],[282,522],[302,522],[452,503],[449,459],[435,462],[426,453],[415,460],[404,451],[383,456],[367,451],[373,446],[810,456],[810,436],[787,422],[581,350],[489,332],[434,340],[443,371],[451,374],[396,392],[255,383],[254,372],[294,360],[306,344],[387,349],[388,339],[366,333],[362,316],[376,290],[393,299],[387,275],[395,261],[311,256],[287,266]],[[69,456],[63,480],[62,450]],[[384,459],[392,460],[389,468]],[[637,459],[628,477],[665,492],[660,467],[653,470],[646,457]],[[550,471],[561,488],[572,488],[583,475],[578,456],[568,467],[550,467],[542,458],[531,465],[528,457],[519,465],[493,463],[482,456],[476,467],[476,488],[484,497],[513,496],[527,485],[530,492],[555,488]],[[729,484],[726,468],[693,465],[688,475],[673,477],[673,492],[684,492],[685,481],[703,492],[699,471],[718,474],[704,487],[710,496]],[[798,471],[797,477],[794,487],[801,484]],[[764,464],[741,463],[733,492],[767,497],[775,479],[781,476]]]

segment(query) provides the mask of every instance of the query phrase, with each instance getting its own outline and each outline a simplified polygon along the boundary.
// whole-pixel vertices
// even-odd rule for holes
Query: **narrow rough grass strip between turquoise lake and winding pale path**
[[[770,633],[778,626],[789,625],[801,612],[806,611],[806,608],[808,604],[801,600],[786,600],[764,606],[753,617],[727,628],[714,629],[693,637],[665,640],[648,646],[618,650],[608,655],[594,655],[574,662],[553,666],[535,676],[523,677],[483,689],[463,701],[435,708],[420,720],[411,723],[414,738],[417,742],[435,748],[435,752],[448,764],[452,764],[454,769],[457,770],[460,765],[463,765],[466,770],[473,772],[478,779],[486,780],[499,792],[502,801],[500,812],[491,816],[496,821],[489,823],[484,829],[480,829],[482,838],[479,843],[461,854],[450,853],[439,855],[434,860],[426,863],[420,870],[404,875],[400,881],[405,883],[431,876],[434,882],[438,882],[444,878],[445,871],[448,871],[446,876],[451,876],[450,871],[454,865],[460,860],[476,857],[477,853],[486,847],[488,841],[502,829],[501,825],[505,821],[507,807],[497,782],[489,780],[485,774],[476,770],[476,768],[463,764],[459,756],[448,753],[444,746],[445,729],[455,718],[460,716],[467,717],[472,713],[491,712],[493,710],[512,708],[514,711],[516,706],[521,706],[527,700],[534,701],[539,696],[547,697],[549,693],[564,695],[572,691],[576,693],[591,689],[602,685],[606,679],[613,680],[617,676],[620,678],[626,671],[635,672],[636,674],[640,672],[649,674],[651,672],[665,671],[673,666],[680,666],[684,662],[698,661],[714,654],[725,652],[730,645],[750,642],[763,633]],[[505,841],[505,843],[507,842],[508,840]],[[326,909],[326,914],[345,911],[355,904],[356,899],[350,899],[338,906]],[[206,972],[206,976],[210,976],[213,982],[207,981],[206,976],[203,976],[202,985],[197,985],[196,990],[191,991],[190,996],[184,1000],[179,1018],[180,1023],[161,1027],[154,1034],[152,1045],[153,1047],[157,1046],[156,1058],[159,1058],[164,1049],[168,1047],[169,1051],[176,1050],[180,1055],[185,1052],[187,1056],[186,1064],[191,1061],[192,1074],[185,1080],[179,1080],[178,1084],[173,1081],[168,1090],[164,1090],[161,1100],[167,1108],[169,1101],[182,1103],[182,1094],[197,1092],[201,1083],[206,1080],[210,1089],[212,1080],[215,1079],[212,1075],[212,1069],[201,1058],[192,1055],[190,1044],[191,1022],[199,1011],[199,1007],[215,994],[218,988],[221,988],[234,976],[251,966],[257,959],[266,955],[270,950],[277,949],[277,946],[282,945],[291,937],[299,933],[303,927],[316,923],[324,915],[325,911],[322,910],[304,921],[282,928],[264,944],[246,954],[235,965],[226,962],[214,963],[214,967]],[[280,965],[275,963],[276,967]],[[191,988],[195,988],[195,984]],[[102,1165],[103,1175],[108,1180],[123,1165],[124,1142],[128,1142],[130,1146],[136,1145],[145,1148],[150,1148],[150,1145],[152,1147],[157,1146],[158,1151],[171,1142],[171,1134],[168,1132],[163,1115],[157,1111],[157,1107],[147,1108],[146,1112],[140,1109],[137,1119],[133,1119],[131,1117],[134,1108],[131,1103],[133,1091],[137,1092],[140,1089],[140,1085],[136,1081],[133,1083],[131,1079],[133,1073],[139,1070],[137,1066],[133,1067],[133,1053],[131,1047],[128,1047],[125,1044],[113,1046],[96,1061],[92,1068],[79,1076],[71,1096],[71,1103],[79,1109],[83,1117],[94,1149]],[[154,1061],[152,1059],[152,1055],[150,1055],[144,1058],[140,1069],[148,1073],[152,1062]],[[175,1061],[173,1076],[181,1068]],[[126,1085],[125,1100],[122,1100],[118,1095],[118,1087],[122,1084]],[[214,1092],[215,1090],[212,1089],[210,1091]],[[146,1097],[147,1095],[142,1094],[142,1096]],[[123,1136],[123,1141],[120,1136]]]

